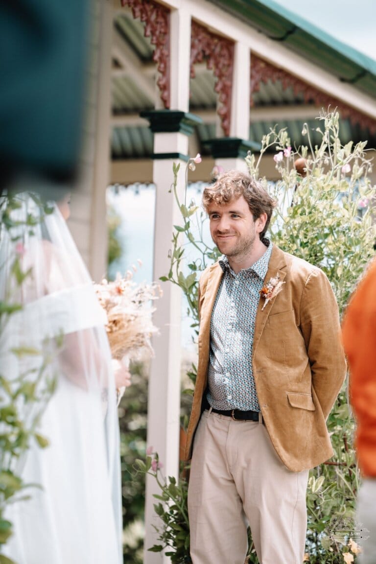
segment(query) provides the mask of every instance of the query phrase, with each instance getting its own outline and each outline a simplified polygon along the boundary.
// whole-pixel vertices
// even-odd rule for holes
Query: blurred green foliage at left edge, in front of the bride
[[[38,214],[28,214],[24,222],[12,218],[12,212],[21,206],[17,195],[3,196],[0,200],[0,237],[5,236],[7,231],[15,245],[21,243],[20,231],[32,233],[32,227],[52,211],[37,195],[29,196],[36,202]],[[32,268],[23,269],[22,253],[22,249],[19,252],[14,250],[10,265],[0,265],[0,275],[9,276],[5,299],[0,302],[0,338],[7,331],[12,315],[22,309],[17,296],[25,281],[32,277]],[[2,546],[13,532],[12,523],[5,519],[6,508],[18,500],[29,499],[24,490],[37,485],[24,483],[19,462],[26,455],[32,440],[36,440],[41,448],[48,446],[48,439],[38,433],[38,424],[56,387],[55,375],[47,376],[46,370],[61,345],[62,339],[57,338],[45,340],[40,349],[28,345],[14,347],[9,352],[23,363],[25,371],[14,377],[7,373],[0,374],[0,564],[15,564],[1,554]],[[27,368],[28,363],[34,368]]]

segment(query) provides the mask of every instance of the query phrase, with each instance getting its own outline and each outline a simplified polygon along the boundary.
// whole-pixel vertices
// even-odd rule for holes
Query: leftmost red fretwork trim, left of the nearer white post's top
[[[153,0],[121,0],[132,8],[133,17],[145,24],[145,37],[155,46],[153,60],[160,76],[157,85],[165,108],[170,108],[170,10]]]

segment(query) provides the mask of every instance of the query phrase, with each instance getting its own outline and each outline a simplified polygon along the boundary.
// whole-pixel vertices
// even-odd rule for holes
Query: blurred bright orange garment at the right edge
[[[376,260],[350,299],[342,334],[350,365],[359,466],[365,476],[376,477]]]

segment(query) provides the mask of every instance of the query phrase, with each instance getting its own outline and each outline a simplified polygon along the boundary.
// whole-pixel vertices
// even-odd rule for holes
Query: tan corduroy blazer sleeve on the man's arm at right
[[[346,377],[337,301],[319,268],[307,277],[300,302],[300,328],[308,352],[312,387],[325,419]]]

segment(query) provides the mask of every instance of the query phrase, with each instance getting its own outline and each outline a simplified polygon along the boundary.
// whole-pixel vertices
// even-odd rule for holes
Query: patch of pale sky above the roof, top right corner
[[[376,0],[275,0],[376,60]]]

